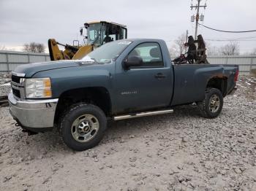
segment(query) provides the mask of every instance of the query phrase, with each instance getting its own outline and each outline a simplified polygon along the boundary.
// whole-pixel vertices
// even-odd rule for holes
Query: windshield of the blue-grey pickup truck
[[[96,50],[90,52],[82,58],[86,63],[112,63],[123,52],[131,41],[115,41],[98,47]]]

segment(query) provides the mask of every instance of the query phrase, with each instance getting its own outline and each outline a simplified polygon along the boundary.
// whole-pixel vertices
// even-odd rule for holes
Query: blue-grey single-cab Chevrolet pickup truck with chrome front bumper
[[[78,61],[18,66],[10,113],[30,133],[59,128],[64,143],[81,151],[101,141],[111,119],[167,114],[192,103],[203,117],[217,117],[237,79],[236,65],[174,65],[163,40],[124,39]]]

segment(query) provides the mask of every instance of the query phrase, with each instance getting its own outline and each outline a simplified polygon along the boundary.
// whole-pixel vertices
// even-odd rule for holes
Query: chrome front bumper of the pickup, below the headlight
[[[8,95],[12,117],[26,128],[52,128],[58,99],[23,100]]]

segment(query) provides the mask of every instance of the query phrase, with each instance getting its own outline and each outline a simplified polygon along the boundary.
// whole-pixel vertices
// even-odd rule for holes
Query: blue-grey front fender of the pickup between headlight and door
[[[53,98],[67,90],[83,87],[105,87],[112,94],[112,69],[114,63],[94,66],[78,66],[67,69],[41,71],[33,77],[50,77]]]

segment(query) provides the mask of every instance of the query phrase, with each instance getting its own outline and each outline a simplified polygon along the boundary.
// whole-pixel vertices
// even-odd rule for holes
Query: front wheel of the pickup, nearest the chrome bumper
[[[107,128],[107,118],[98,106],[74,104],[60,118],[62,139],[71,149],[83,151],[97,146]]]

